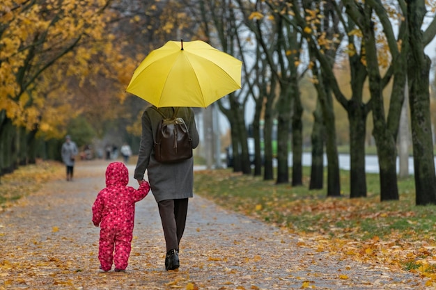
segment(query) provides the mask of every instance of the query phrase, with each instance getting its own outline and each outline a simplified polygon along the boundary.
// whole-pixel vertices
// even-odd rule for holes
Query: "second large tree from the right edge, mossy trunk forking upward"
[[[389,49],[393,49],[390,51],[390,53],[392,58],[394,58],[396,61],[395,68],[398,72],[395,78],[395,83],[396,88],[399,90],[396,92],[399,93],[391,95],[389,118],[386,118],[384,111],[383,89],[384,83],[386,83],[385,80],[389,79],[391,74],[386,74],[386,79],[383,79],[381,76],[380,67],[382,67],[382,65],[380,64],[380,61],[383,61],[386,58],[379,57],[380,50],[377,49],[377,45],[379,43],[380,36],[383,36],[383,34],[378,33],[378,30],[376,29],[377,26],[373,21],[374,8],[371,6],[372,2],[373,1],[370,1],[370,3],[367,2],[361,4],[354,1],[345,1],[345,7],[348,15],[350,15],[351,19],[359,27],[363,35],[362,42],[364,44],[363,48],[365,53],[364,62],[368,71],[373,109],[373,136],[377,145],[377,155],[380,164],[381,200],[398,200],[398,185],[396,177],[396,134],[398,131],[398,122],[400,116],[400,111],[398,111],[398,108],[401,108],[404,95],[400,92],[401,83],[403,83],[403,85],[405,83],[405,75],[402,75],[400,72],[405,72],[405,63],[403,56],[401,56],[399,53],[399,49],[396,45],[396,39],[391,38],[392,24],[389,25],[389,23],[384,21],[385,19],[388,19],[388,15],[381,6],[381,3],[377,3],[377,5],[380,4],[377,11],[379,13],[384,11],[382,16],[386,17],[381,19],[380,22],[382,22],[384,31],[389,34],[389,40],[387,41],[391,44],[393,42],[395,43],[395,46],[390,45]],[[403,37],[404,33],[400,33],[399,39]]]

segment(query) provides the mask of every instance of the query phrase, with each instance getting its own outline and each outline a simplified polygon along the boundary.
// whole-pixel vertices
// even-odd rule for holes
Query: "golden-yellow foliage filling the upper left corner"
[[[106,23],[114,15],[102,10],[107,5],[104,0],[36,1],[26,6],[21,6],[21,2],[24,1],[2,1],[1,4],[1,10],[6,13],[0,23],[7,25],[0,36],[0,110],[5,110],[15,125],[28,129],[38,125],[43,133],[56,136],[72,115],[70,106],[66,106],[70,100],[65,97],[67,90],[59,86],[65,83],[65,76],[77,76],[84,83],[89,74],[111,72],[107,65],[90,66],[89,63],[100,57],[103,49],[103,55],[108,58],[119,54],[120,48],[114,49],[111,44],[113,35],[106,30]],[[61,54],[78,39],[75,51]],[[24,66],[29,48],[35,49],[35,55],[27,60],[26,77],[31,78],[35,74],[33,70],[52,58],[56,62],[22,92],[22,83],[18,83],[15,74]],[[62,58],[56,59],[58,54]],[[26,81],[29,79],[22,80]],[[49,94],[51,91],[55,91],[54,95]]]

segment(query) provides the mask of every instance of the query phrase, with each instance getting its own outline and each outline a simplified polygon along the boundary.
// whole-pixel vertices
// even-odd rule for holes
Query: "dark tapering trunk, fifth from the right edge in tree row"
[[[309,190],[322,189],[322,186],[324,186],[324,134],[325,128],[322,124],[322,111],[318,99],[318,102],[316,102],[316,109],[313,112],[313,129],[311,135],[312,165]]]

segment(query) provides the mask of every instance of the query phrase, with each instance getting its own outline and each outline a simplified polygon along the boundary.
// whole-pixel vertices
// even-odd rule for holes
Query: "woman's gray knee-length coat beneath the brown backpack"
[[[172,116],[173,108],[159,108],[164,115]],[[198,146],[199,137],[192,108],[180,107],[178,117],[183,118],[192,138],[192,148]],[[154,142],[162,116],[155,109],[148,107],[142,115],[141,145],[134,179],[141,180],[147,170],[148,182],[157,202],[180,198],[192,198],[194,187],[194,158],[179,163],[159,163],[155,159]]]

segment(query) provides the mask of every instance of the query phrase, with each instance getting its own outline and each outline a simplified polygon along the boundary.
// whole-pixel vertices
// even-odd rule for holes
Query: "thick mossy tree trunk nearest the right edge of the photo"
[[[436,204],[436,175],[430,121],[429,75],[430,59],[424,53],[421,25],[426,14],[423,0],[407,1],[410,27],[410,116],[416,204]]]

